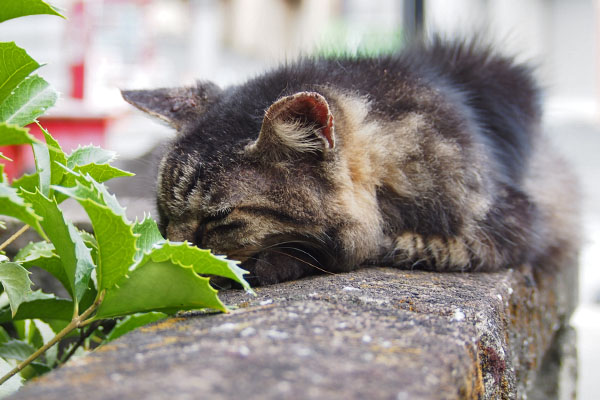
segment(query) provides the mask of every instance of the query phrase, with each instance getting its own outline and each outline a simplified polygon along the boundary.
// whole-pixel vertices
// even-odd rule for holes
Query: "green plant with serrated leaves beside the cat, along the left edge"
[[[31,14],[60,16],[41,0],[0,0],[0,5],[0,22]],[[150,217],[129,221],[103,185],[132,175],[110,165],[113,152],[85,146],[66,154],[41,126],[44,140],[29,134],[25,126],[57,99],[54,89],[33,75],[39,67],[15,43],[0,43],[0,146],[31,146],[36,165],[33,174],[9,183],[0,163],[0,215],[25,224],[0,243],[0,396],[94,341],[115,339],[180,310],[227,311],[202,275],[227,277],[251,290],[235,261],[165,240]],[[67,198],[84,208],[94,235],[64,217],[59,204]],[[8,258],[3,249],[29,227],[43,240]],[[69,297],[33,291],[29,269],[34,266],[56,278]],[[122,316],[127,317],[107,329],[106,320]],[[58,343],[78,332],[79,340],[59,351]]]

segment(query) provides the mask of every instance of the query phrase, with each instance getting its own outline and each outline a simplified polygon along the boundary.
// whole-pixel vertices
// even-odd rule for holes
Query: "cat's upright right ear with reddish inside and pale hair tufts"
[[[333,150],[334,121],[327,100],[316,92],[300,92],[277,100],[267,109],[253,147],[271,153]]]

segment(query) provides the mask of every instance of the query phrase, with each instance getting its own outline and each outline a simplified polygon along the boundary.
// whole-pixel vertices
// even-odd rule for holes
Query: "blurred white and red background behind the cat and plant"
[[[0,26],[61,93],[42,124],[65,150],[94,143],[136,159],[172,135],[127,105],[119,88],[226,86],[302,54],[399,48],[419,32],[485,35],[537,67],[546,131],[582,181],[579,395],[600,398],[600,0],[52,0],[67,21],[33,16]],[[31,168],[29,153],[12,172]],[[137,164],[136,164],[137,163]],[[152,197],[153,161],[130,190]],[[131,180],[130,182],[133,182]],[[117,185],[118,187],[118,185]],[[115,188],[115,190],[117,190]],[[151,201],[148,211],[152,208]]]

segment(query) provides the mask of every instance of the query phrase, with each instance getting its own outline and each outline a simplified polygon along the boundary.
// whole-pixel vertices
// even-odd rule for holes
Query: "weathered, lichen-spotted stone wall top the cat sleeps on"
[[[13,398],[572,398],[575,278],[370,268],[230,291],[229,314],[141,328]]]

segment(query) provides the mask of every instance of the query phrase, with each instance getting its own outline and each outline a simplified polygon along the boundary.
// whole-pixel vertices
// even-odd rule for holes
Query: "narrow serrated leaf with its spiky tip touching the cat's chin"
[[[182,266],[192,266],[198,274],[218,275],[233,279],[242,285],[246,291],[252,291],[250,285],[244,279],[244,274],[247,274],[248,271],[238,267],[238,261],[214,255],[210,250],[199,249],[187,242],[179,243],[167,240],[164,243],[158,243],[150,254],[145,255],[144,259],[151,259],[154,262],[170,260]]]

